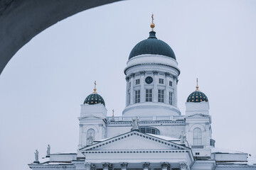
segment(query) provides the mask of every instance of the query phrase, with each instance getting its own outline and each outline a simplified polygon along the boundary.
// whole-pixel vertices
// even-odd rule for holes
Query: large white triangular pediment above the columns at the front
[[[81,151],[125,151],[125,150],[172,150],[188,149],[174,142],[169,142],[142,132],[132,131],[112,137],[97,144],[83,147]]]

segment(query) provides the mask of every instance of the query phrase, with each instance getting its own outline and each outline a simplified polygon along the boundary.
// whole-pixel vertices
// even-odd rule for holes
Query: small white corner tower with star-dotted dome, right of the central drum
[[[196,91],[186,101],[186,139],[195,157],[210,157],[210,148],[215,146],[212,139],[211,117],[206,94],[199,91],[196,80]]]

